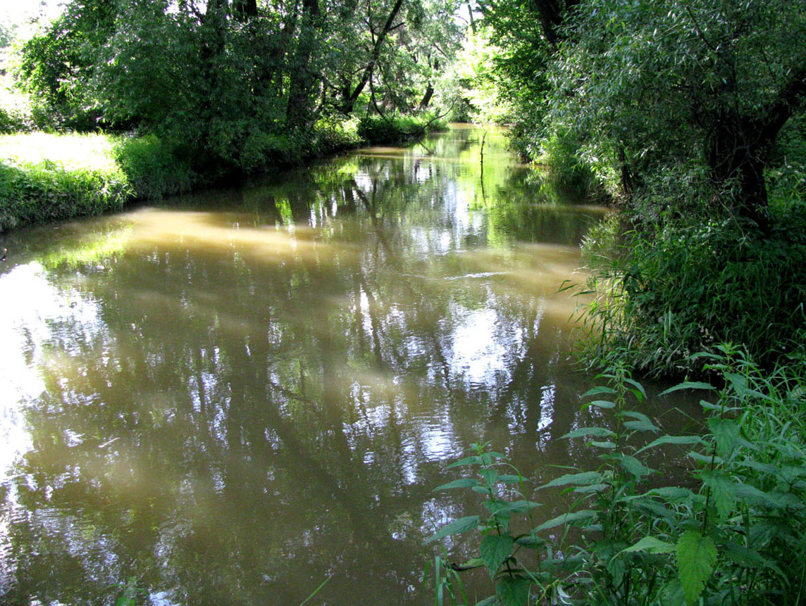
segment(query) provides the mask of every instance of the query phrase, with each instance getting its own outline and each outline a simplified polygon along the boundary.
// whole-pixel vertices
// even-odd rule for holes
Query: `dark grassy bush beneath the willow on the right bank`
[[[771,365],[804,348],[806,206],[779,211],[769,237],[733,220],[667,222],[626,233],[616,245],[586,242],[592,269],[584,307],[592,332],[584,358],[622,360],[653,374],[689,369],[693,352],[742,344]],[[607,245],[609,254],[596,254]]]

